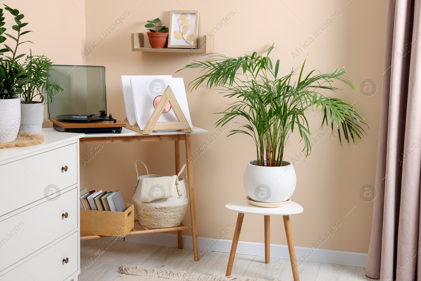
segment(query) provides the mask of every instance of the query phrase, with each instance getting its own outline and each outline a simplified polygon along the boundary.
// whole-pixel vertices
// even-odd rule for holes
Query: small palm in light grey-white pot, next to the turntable
[[[19,86],[23,89],[21,97],[21,126],[19,131],[41,134],[44,121],[44,104],[53,100],[53,92],[63,89],[48,80],[52,69],[51,59],[46,56],[26,57],[23,64],[17,63],[19,70],[24,72],[26,79]]]

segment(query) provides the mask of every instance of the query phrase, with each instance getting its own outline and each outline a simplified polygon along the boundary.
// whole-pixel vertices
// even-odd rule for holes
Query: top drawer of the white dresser
[[[75,185],[77,161],[75,143],[1,165],[0,215]]]

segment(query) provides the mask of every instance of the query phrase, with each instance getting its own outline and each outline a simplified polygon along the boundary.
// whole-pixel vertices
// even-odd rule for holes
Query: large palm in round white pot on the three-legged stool
[[[310,128],[306,113],[320,110],[322,126],[337,128],[339,142],[342,136],[355,144],[365,133],[365,117],[360,110],[342,99],[323,91],[336,92],[333,82],[341,81],[352,88],[345,69],[331,73],[316,70],[304,75],[304,64],[288,75],[279,77],[280,60],[273,62],[266,56],[244,55],[231,58],[220,54],[207,54],[204,62],[195,61],[186,68],[200,69],[201,74],[190,83],[191,90],[206,82],[209,88],[218,87],[226,97],[236,98],[216,126],[223,126],[234,118],[244,120],[240,128],[229,134],[251,136],[256,145],[256,160],[248,162],[243,184],[254,201],[276,203],[287,201],[296,187],[293,165],[284,160],[285,144],[291,133],[298,131],[305,155],[311,152]],[[205,55],[206,56],[206,55]],[[293,80],[298,75],[298,80]],[[237,117],[240,117],[237,119]]]

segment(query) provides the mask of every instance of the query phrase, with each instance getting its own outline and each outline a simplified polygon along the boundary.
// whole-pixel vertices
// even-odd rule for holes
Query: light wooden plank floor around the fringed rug
[[[78,281],[114,281],[122,264],[225,276],[229,257],[228,253],[208,252],[195,262],[192,249],[107,239],[81,241],[80,255]],[[375,280],[366,277],[364,270],[360,266],[313,261],[304,261],[298,267],[301,281]],[[270,263],[265,264],[263,256],[237,254],[232,275],[293,281],[290,260],[277,257],[271,257]]]

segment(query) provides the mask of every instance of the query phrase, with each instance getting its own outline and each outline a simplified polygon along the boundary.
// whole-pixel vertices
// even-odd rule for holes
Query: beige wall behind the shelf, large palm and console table
[[[125,117],[121,75],[171,75],[192,59],[201,59],[198,55],[189,58],[187,54],[131,51],[130,34],[145,32],[145,21],[155,17],[160,17],[168,26],[170,10],[199,10],[200,36],[214,27],[219,28],[214,39],[217,53],[239,56],[258,51],[264,54],[267,47],[275,43],[272,56],[281,60],[282,67],[285,65],[283,73],[298,67],[307,57],[307,71],[317,68],[322,72],[331,72],[336,67],[345,66],[357,88],[362,80],[374,80],[378,86],[374,96],[367,97],[359,90],[354,93],[350,89],[338,94],[360,108],[368,119],[370,130],[360,145],[340,146],[336,134],[328,135],[315,145],[309,158],[296,163],[297,188],[292,199],[304,207],[304,212],[291,218],[296,246],[314,247],[312,243],[321,238],[335,222],[339,222],[341,226],[321,248],[367,252],[373,203],[360,198],[360,188],[374,184],[386,2],[163,0],[157,5],[153,1],[89,0],[85,1],[83,8],[83,1],[79,0],[73,1],[76,8],[71,1],[62,3],[37,0],[28,6],[31,1],[19,5],[27,14],[31,13],[27,17],[33,19],[30,21],[32,30],[55,30],[51,36],[38,32],[37,36],[40,37],[32,37],[36,40],[37,48],[42,47],[45,54],[57,63],[106,66],[107,108],[117,118]],[[125,11],[130,15],[126,16],[123,25],[107,38],[101,35]],[[235,15],[223,26],[221,20],[230,11]],[[312,32],[322,27],[335,12],[340,15],[333,21],[333,25],[315,38]],[[56,20],[51,19],[51,16]],[[81,44],[86,41],[85,47],[90,47],[99,37],[102,37],[103,42],[83,60]],[[302,48],[303,54],[294,59],[291,53],[309,37],[313,37],[314,42],[306,50]],[[59,42],[63,40],[63,43],[57,43],[57,38]],[[186,87],[196,75],[194,71],[174,74],[175,77],[184,78]],[[221,234],[230,221],[236,219],[236,214],[227,211],[224,205],[246,196],[242,187],[242,171],[248,161],[255,159],[255,148],[252,140],[246,136],[225,138],[226,132],[213,143],[207,139],[217,132],[213,124],[218,115],[212,113],[224,110],[226,102],[229,102],[217,91],[200,87],[188,93],[187,98],[194,125],[209,130],[208,134],[192,136],[192,150],[203,147],[205,143],[209,145],[194,161],[197,231],[201,237],[214,238]],[[314,117],[311,113],[307,116],[313,134],[319,134],[320,113],[317,112]],[[235,125],[230,128],[235,128]],[[290,137],[286,160],[291,161],[302,150],[299,140],[296,134]],[[97,147],[83,146],[87,149]],[[89,169],[88,189],[120,189],[125,201],[130,202],[136,185],[133,162],[141,159],[152,173],[170,175],[174,173],[173,154],[172,143],[106,144],[92,160],[85,163],[85,171]],[[85,157],[86,160],[89,159]],[[104,164],[111,168],[104,168]],[[282,218],[273,217],[271,225],[271,242],[286,244]],[[242,228],[241,240],[264,241],[262,217],[246,216]],[[233,232],[230,232],[228,238],[232,238],[232,235]]]

